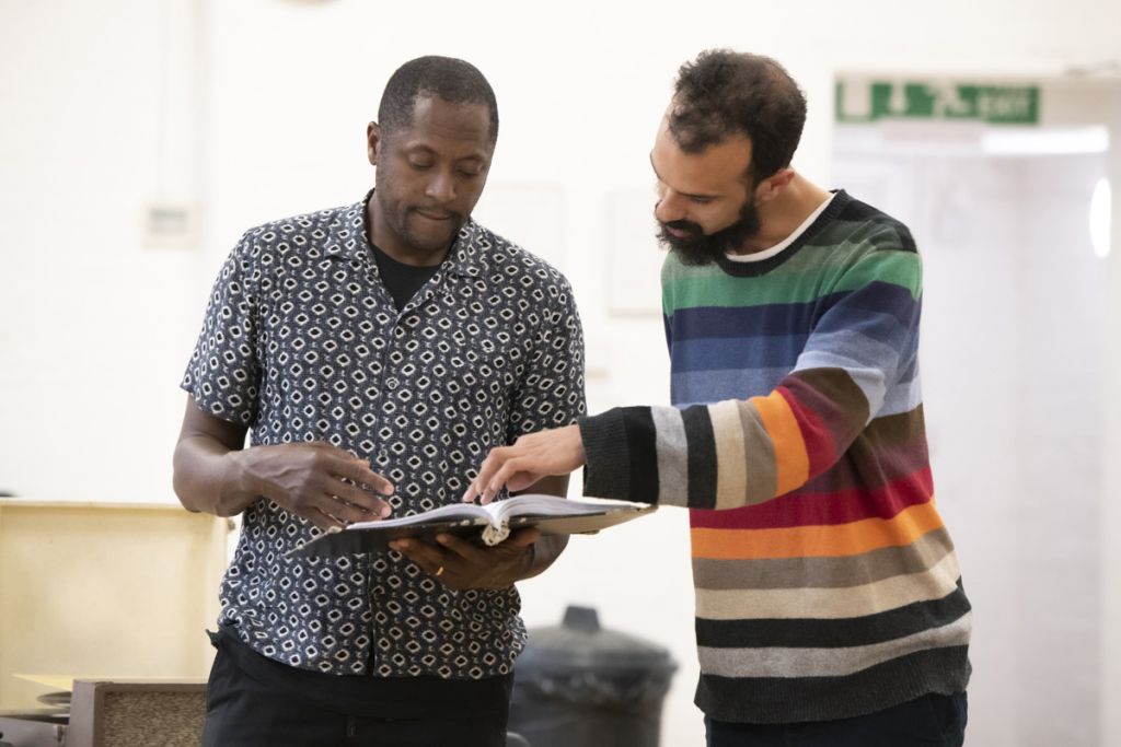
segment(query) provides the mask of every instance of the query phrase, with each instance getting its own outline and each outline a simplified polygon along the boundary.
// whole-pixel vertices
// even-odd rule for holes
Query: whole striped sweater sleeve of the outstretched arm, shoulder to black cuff
[[[761,503],[836,464],[873,418],[919,407],[917,253],[865,253],[821,309],[796,365],[766,395],[582,418],[584,493],[694,508]]]

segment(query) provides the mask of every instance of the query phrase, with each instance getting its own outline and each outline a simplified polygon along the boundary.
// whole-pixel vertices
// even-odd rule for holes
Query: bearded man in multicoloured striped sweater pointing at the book
[[[494,450],[465,499],[585,466],[584,492],[689,511],[710,747],[956,747],[970,603],[934,504],[910,232],[790,168],[772,59],[682,66],[650,162],[675,408]]]

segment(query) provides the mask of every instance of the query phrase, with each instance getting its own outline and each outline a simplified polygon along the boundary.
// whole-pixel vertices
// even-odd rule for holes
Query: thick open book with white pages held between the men
[[[442,533],[478,538],[483,544],[492,545],[504,540],[510,530],[522,526],[536,526],[541,534],[594,534],[656,508],[646,503],[601,498],[577,501],[524,493],[487,505],[456,503],[400,519],[358,522],[342,532],[317,536],[293,550],[291,554],[314,558],[383,552],[391,540],[432,539]]]

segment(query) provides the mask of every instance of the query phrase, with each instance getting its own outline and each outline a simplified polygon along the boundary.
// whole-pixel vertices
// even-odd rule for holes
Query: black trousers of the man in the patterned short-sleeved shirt
[[[495,682],[488,681],[474,689],[487,702],[473,703],[469,693],[458,702],[443,707],[437,702],[426,709],[414,700],[407,708],[391,709],[400,710],[399,715],[387,715],[376,712],[385,710],[378,703],[368,703],[369,708],[361,710],[335,708],[322,691],[300,697],[290,682],[269,681],[275,667],[282,664],[253,653],[263,661],[239,666],[239,661],[245,663],[247,654],[231,651],[232,645],[228,641],[217,645],[206,688],[203,747],[502,747],[506,744],[512,678],[499,678],[497,689]],[[276,679],[282,681],[288,673],[277,674],[280,676]]]

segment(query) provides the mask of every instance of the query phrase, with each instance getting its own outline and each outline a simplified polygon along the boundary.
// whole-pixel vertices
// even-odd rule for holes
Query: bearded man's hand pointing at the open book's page
[[[584,441],[578,426],[527,433],[513,446],[491,449],[463,494],[463,502],[472,503],[478,497],[480,503],[490,503],[503,485],[517,493],[547,475],[567,475],[583,466]]]

